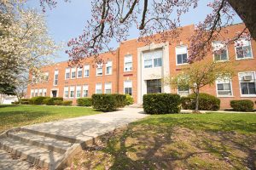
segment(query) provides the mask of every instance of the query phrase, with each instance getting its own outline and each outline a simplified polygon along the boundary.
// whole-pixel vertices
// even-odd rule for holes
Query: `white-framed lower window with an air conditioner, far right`
[[[256,96],[255,72],[241,72],[238,74],[241,97]]]

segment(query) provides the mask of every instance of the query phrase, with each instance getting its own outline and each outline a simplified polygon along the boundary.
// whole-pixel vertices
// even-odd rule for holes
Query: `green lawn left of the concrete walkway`
[[[50,122],[100,113],[90,108],[49,105],[0,105],[0,133],[38,122]]]

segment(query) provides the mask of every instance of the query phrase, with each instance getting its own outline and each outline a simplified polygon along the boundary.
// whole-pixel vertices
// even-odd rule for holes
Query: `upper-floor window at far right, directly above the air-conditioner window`
[[[241,39],[235,43],[236,59],[251,59],[253,58],[251,41]]]

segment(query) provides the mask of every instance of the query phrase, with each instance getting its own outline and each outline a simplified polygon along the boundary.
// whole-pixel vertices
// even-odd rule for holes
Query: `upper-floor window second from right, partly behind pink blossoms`
[[[222,42],[213,42],[213,54],[215,61],[228,60],[228,50],[227,47]]]

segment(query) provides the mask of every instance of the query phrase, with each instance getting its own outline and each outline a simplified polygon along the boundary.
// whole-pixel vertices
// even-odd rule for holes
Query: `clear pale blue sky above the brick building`
[[[47,8],[45,15],[50,36],[53,37],[55,42],[64,43],[63,49],[58,52],[59,57],[55,59],[56,62],[59,62],[68,59],[68,55],[65,53],[67,42],[71,38],[82,34],[86,20],[90,20],[91,13],[90,0],[70,0],[68,3],[64,2],[64,0],[58,0],[57,2],[57,7],[53,9]],[[207,14],[211,13],[211,8],[207,7],[209,2],[212,2],[212,0],[200,0],[197,8],[190,9],[189,13],[183,14],[181,26],[197,24],[204,20]],[[39,0],[28,0],[27,7],[42,10],[39,6]],[[235,16],[234,19],[234,24],[241,22],[238,16]],[[136,38],[139,35],[135,28],[131,28],[129,33],[128,39]],[[117,48],[119,44],[112,42],[110,46]]]

